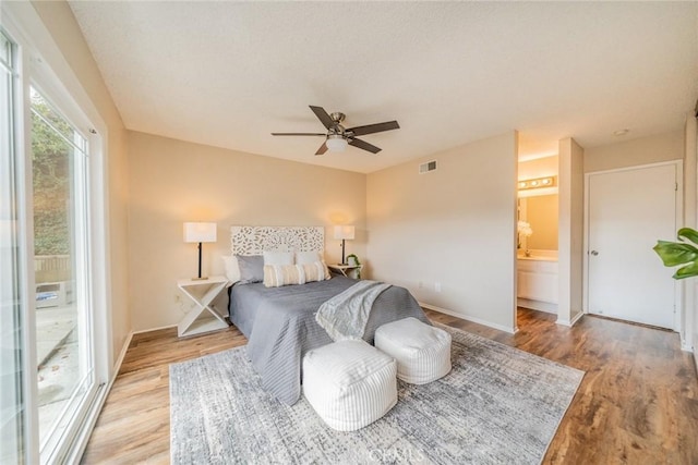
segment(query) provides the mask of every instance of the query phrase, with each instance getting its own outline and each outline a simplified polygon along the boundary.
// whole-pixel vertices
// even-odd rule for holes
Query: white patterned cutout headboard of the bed
[[[231,227],[233,255],[262,255],[263,252],[325,250],[324,227]]]

